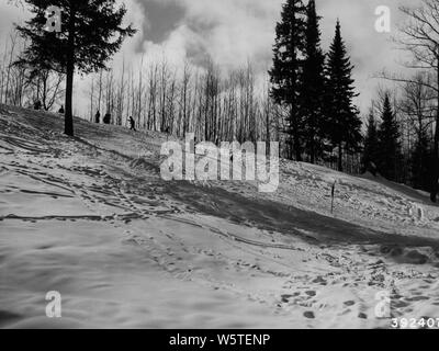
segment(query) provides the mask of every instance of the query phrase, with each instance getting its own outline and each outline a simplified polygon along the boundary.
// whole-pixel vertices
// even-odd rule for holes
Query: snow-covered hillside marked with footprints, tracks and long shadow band
[[[76,127],[0,105],[0,327],[389,328],[382,292],[393,317],[439,317],[427,194],[286,161],[273,194],[165,182],[165,136]]]

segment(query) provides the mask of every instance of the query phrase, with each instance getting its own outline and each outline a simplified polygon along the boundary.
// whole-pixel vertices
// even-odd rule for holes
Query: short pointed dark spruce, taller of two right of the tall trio
[[[401,159],[399,131],[389,94],[384,98],[382,123],[379,128],[379,170],[383,177],[395,181]]]

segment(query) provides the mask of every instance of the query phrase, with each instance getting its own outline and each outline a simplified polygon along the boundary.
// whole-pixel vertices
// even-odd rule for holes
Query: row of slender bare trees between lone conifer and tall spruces
[[[110,113],[112,123],[125,125],[133,116],[140,128],[178,137],[194,133],[198,140],[275,140],[277,109],[268,83],[261,91],[250,64],[222,72],[207,61],[195,68],[187,61],[175,67],[161,59],[138,71],[123,64],[98,73],[90,86],[90,118]]]

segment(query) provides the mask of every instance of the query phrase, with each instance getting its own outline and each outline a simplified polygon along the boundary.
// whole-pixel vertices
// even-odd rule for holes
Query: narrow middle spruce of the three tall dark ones
[[[304,117],[304,139],[309,162],[315,163],[323,154],[325,55],[320,48],[320,30],[315,0],[309,0],[305,32],[301,111]]]

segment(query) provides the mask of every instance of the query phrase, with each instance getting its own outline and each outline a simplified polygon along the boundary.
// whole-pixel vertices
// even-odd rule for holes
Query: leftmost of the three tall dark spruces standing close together
[[[273,67],[269,71],[271,97],[286,107],[289,158],[302,160],[302,116],[300,111],[301,72],[305,49],[305,14],[302,0],[286,0],[275,27]]]

